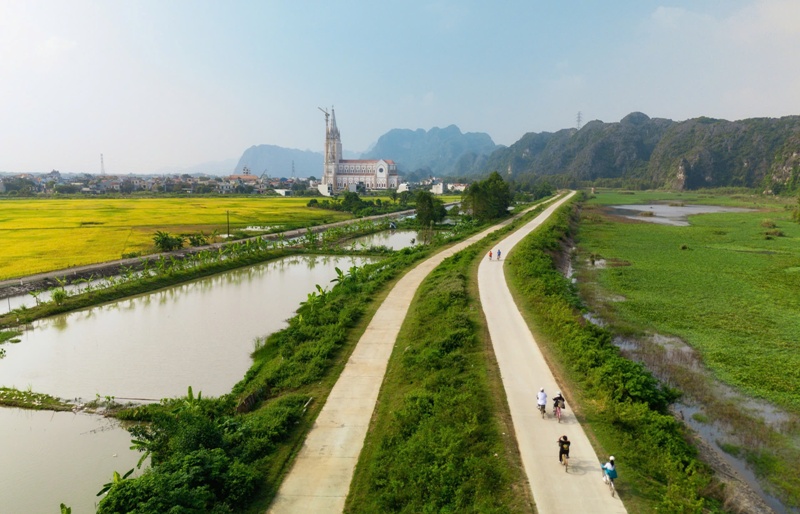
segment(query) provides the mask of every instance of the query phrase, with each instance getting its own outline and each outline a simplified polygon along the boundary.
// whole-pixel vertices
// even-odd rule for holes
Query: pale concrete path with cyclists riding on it
[[[564,200],[566,198],[496,243],[495,249],[502,251],[503,259]],[[569,408],[569,402],[561,423],[552,415],[551,398],[560,388],[511,297],[502,261],[484,258],[478,268],[478,287],[522,463],[538,513],[626,512],[619,498],[612,498],[602,481],[600,459],[607,456],[599,458],[595,455],[586,433]],[[544,387],[548,395],[547,419],[542,419],[536,410],[536,393],[540,387]],[[572,441],[569,473],[565,473],[558,462],[557,440],[562,435]]]

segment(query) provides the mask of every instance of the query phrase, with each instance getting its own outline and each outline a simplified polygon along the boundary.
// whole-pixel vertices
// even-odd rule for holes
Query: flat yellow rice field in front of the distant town
[[[248,226],[317,225],[348,213],[310,209],[307,198],[0,200],[0,280],[155,251],[153,234],[210,234]]]

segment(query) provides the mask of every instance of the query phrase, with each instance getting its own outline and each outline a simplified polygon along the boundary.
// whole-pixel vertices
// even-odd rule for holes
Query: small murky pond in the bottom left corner
[[[56,513],[61,503],[95,512],[103,484],[141,457],[130,445],[128,431],[102,416],[0,408],[0,512]]]

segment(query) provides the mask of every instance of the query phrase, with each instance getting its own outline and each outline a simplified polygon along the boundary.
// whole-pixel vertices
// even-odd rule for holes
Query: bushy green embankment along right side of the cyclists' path
[[[578,200],[525,238],[506,263],[509,285],[549,364],[578,405],[600,455],[617,457],[618,488],[629,512],[709,512],[711,473],[667,413],[674,393],[620,356],[612,334],[585,322],[580,301],[556,269],[577,221]],[[704,510],[705,509],[705,510]]]

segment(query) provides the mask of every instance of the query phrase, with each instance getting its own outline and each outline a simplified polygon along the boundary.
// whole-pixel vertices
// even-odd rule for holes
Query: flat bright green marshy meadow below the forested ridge
[[[668,201],[680,198],[669,195]],[[800,505],[800,225],[779,200],[690,198],[762,210],[703,214],[692,217],[691,226],[672,227],[610,218],[597,203],[615,198],[598,195],[582,213],[582,291],[617,330],[677,337],[717,379],[787,410],[788,422],[766,423],[702,376],[672,370],[689,400],[732,432],[722,447],[746,457],[774,494]],[[634,199],[663,201],[664,195],[637,193],[626,203]],[[605,266],[588,264],[589,255]]]

